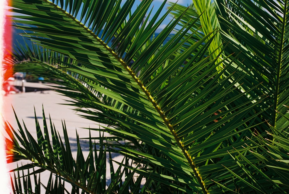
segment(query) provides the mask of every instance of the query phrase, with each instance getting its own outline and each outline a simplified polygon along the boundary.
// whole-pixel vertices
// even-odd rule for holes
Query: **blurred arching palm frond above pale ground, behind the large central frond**
[[[98,93],[92,87],[88,87],[88,83],[96,84],[92,79],[67,70],[65,68],[68,67],[67,64],[77,64],[77,66],[81,64],[58,52],[43,49],[38,45],[32,45],[32,48],[26,45],[22,48],[19,47],[13,54],[13,58],[14,71],[29,72],[30,74],[45,77],[50,83],[56,84],[53,85],[56,91],[70,96],[73,99],[70,103],[76,107],[95,108],[93,103],[95,101],[111,106],[121,106],[118,105],[119,103],[117,104],[117,101],[113,101],[112,98]],[[32,69],[31,65],[33,65]],[[84,111],[83,109],[79,110]],[[98,107],[98,112],[94,112],[94,120],[106,125],[115,125],[115,122],[110,118],[104,115],[97,116],[97,114],[105,112],[107,112],[107,109]],[[116,117],[113,115],[114,112],[111,113],[111,118]]]

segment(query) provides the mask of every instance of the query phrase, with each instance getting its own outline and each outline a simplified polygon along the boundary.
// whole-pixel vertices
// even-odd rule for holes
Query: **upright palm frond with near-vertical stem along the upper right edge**
[[[288,104],[288,14],[287,0],[216,1],[221,37],[230,42],[227,53],[242,51],[243,69],[252,69],[250,83],[261,83],[259,90],[270,97],[262,107],[271,106],[263,117],[277,129],[288,127],[288,121],[276,111],[286,114]],[[255,95],[253,94],[253,95]]]

